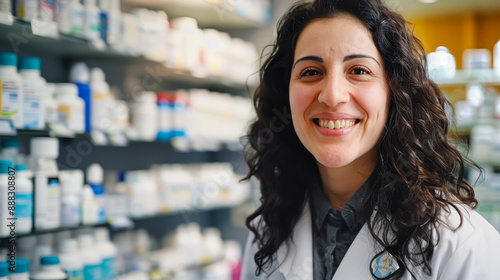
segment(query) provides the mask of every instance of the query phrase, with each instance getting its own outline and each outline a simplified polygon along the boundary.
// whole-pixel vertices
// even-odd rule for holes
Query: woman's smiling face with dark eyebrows
[[[325,167],[375,164],[389,86],[369,30],[347,14],[314,20],[298,38],[293,63],[290,107],[306,149]]]

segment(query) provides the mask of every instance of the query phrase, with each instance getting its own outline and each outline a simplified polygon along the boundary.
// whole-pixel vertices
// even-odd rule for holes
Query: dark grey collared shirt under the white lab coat
[[[331,206],[319,182],[312,186],[314,280],[333,278],[354,238],[367,221],[372,209],[366,202],[377,173],[372,173],[342,210]]]

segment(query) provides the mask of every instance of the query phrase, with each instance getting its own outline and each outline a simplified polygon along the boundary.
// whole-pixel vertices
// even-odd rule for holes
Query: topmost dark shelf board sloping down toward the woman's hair
[[[110,63],[127,65],[132,71],[142,75],[152,75],[172,85],[190,85],[195,88],[215,88],[222,92],[247,94],[255,85],[222,76],[199,76],[190,71],[171,69],[164,63],[148,59],[142,55],[131,55],[105,49],[100,50],[91,41],[65,34],[57,38],[39,36],[33,33],[31,24],[14,18],[12,25],[0,23],[0,51],[19,55],[52,55],[79,60],[107,60]]]

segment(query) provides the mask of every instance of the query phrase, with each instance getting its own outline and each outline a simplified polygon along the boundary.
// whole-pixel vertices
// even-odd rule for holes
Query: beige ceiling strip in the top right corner
[[[422,3],[419,0],[383,0],[405,17],[424,17],[467,12],[500,12],[500,0],[437,0]]]

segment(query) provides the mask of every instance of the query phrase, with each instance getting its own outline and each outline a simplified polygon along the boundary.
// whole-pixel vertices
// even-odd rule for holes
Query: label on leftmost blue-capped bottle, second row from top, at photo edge
[[[2,117],[10,118],[16,127],[21,126],[22,117],[19,92],[20,84],[15,80],[2,79]]]

